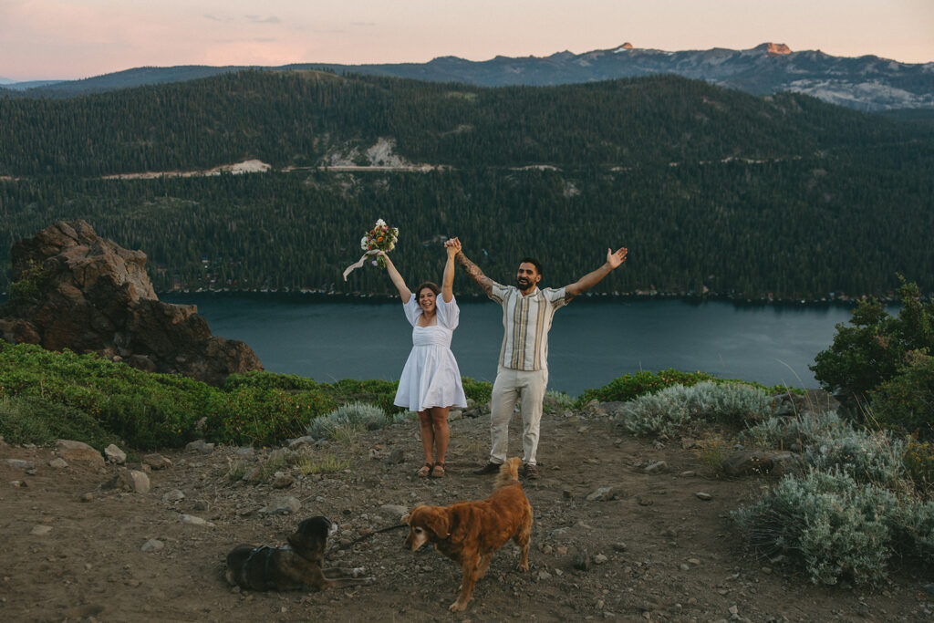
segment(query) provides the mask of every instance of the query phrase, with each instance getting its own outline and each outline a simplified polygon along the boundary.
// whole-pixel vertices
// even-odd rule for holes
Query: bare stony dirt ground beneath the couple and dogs
[[[5,621],[916,621],[931,620],[931,578],[896,575],[881,588],[817,587],[785,562],[749,551],[729,511],[755,496],[758,478],[715,477],[678,441],[631,437],[612,418],[546,414],[543,477],[525,481],[534,509],[531,571],[506,545],[464,613],[451,614],[460,570],[433,548],[403,550],[398,508],[481,499],[493,476],[488,418],[452,419],[448,474],[421,479],[413,421],[310,446],[275,482],[242,474],[270,463],[219,446],[163,451],[147,493],[100,486],[121,469],[78,460],[52,467],[52,448],[0,444],[0,619]],[[511,427],[518,452],[520,422]],[[125,449],[125,448],[124,448]],[[397,462],[402,455],[403,462]],[[23,469],[7,459],[28,460]],[[138,459],[138,458],[137,458]],[[646,473],[659,460],[665,466]],[[312,464],[345,461],[332,474]],[[138,460],[128,461],[141,469]],[[293,479],[291,484],[290,478]],[[16,481],[19,481],[17,483]],[[275,488],[274,483],[278,487]],[[601,488],[603,499],[587,500]],[[166,494],[180,490],[181,500]],[[702,500],[705,493],[709,500]],[[292,496],[294,514],[261,509]],[[177,497],[177,494],[175,494]],[[164,498],[164,499],[163,499]],[[609,498],[609,499],[607,499]],[[182,521],[183,516],[208,524]],[[362,566],[375,584],[321,592],[230,588],[226,553],[239,543],[282,545],[297,523],[325,515],[341,525],[329,561]],[[35,533],[45,532],[45,533]],[[144,544],[158,540],[151,551]],[[150,544],[151,545],[151,544]],[[343,548],[342,548],[343,546]],[[582,552],[586,552],[584,555]],[[589,561],[589,569],[578,563]]]

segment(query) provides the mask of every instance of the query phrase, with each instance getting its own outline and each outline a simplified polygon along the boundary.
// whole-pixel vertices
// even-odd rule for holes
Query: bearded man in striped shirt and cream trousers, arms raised
[[[489,461],[474,474],[494,474],[506,460],[509,440],[509,418],[517,401],[522,405],[522,462],[527,478],[538,478],[535,452],[538,449],[539,427],[542,420],[542,402],[548,383],[548,330],[555,311],[568,304],[573,297],[590,290],[604,276],[626,261],[626,248],[616,252],[606,249],[606,262],[597,270],[587,273],[574,283],[554,290],[539,290],[542,265],[533,258],[519,262],[516,286],[503,286],[483,274],[460,250],[460,240],[452,238],[446,247],[458,249],[455,260],[487,293],[502,304],[502,347],[493,383],[489,432],[492,449]]]

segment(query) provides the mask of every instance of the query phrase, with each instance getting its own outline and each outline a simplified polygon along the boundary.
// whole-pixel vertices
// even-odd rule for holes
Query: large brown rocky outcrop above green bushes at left
[[[14,295],[0,308],[7,342],[96,352],[211,385],[262,370],[246,344],[211,335],[196,305],[161,303],[145,253],[101,238],[83,220],[59,221],[17,242],[11,255]]]

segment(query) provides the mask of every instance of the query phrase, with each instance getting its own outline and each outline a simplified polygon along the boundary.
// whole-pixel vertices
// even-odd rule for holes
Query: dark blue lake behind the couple
[[[412,346],[398,299],[333,299],[301,294],[163,294],[197,304],[212,333],[243,340],[270,372],[318,381],[396,380]],[[764,385],[815,388],[808,369],[829,347],[843,305],[735,305],[724,301],[581,297],[555,315],[549,334],[549,389],[573,396],[616,376],[676,368]],[[897,313],[897,308],[890,310]],[[460,373],[492,381],[502,341],[502,309],[460,302],[451,349]]]

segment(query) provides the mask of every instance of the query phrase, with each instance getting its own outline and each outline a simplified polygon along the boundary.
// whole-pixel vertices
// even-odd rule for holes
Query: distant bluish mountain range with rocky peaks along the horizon
[[[248,68],[323,69],[338,74],[415,78],[476,86],[554,86],[677,74],[755,95],[801,92],[825,102],[864,111],[934,108],[934,63],[899,63],[871,54],[831,56],[820,50],[792,51],[785,44],[776,43],[763,43],[751,50],[714,48],[683,51],[639,49],[625,43],[611,50],[592,50],[582,54],[563,51],[546,57],[497,56],[480,62],[446,56],[422,64],[138,67],[81,80],[7,84],[0,88],[0,93],[68,97],[206,78]]]

